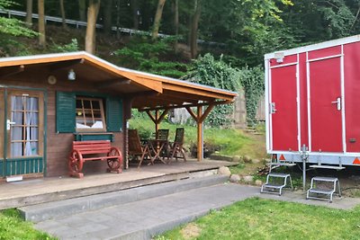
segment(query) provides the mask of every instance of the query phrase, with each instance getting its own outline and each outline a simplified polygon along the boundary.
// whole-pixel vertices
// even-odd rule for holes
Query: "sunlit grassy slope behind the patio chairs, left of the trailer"
[[[185,147],[190,149],[196,144],[197,128],[193,126],[180,126],[163,120],[159,129],[170,129],[169,139],[174,139],[175,129],[185,129]],[[138,129],[140,138],[151,138],[155,132],[155,124],[145,118],[130,120],[130,129]],[[253,158],[265,157],[265,140],[251,138],[239,129],[204,129],[205,146],[220,147],[219,154],[226,156],[251,156]]]

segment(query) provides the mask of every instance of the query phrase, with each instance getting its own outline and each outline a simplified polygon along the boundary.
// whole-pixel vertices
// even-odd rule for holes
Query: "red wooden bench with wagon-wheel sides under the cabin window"
[[[73,149],[68,159],[70,176],[84,177],[83,165],[86,161],[107,161],[108,172],[121,173],[122,156],[119,148],[112,147],[109,140],[74,141]]]

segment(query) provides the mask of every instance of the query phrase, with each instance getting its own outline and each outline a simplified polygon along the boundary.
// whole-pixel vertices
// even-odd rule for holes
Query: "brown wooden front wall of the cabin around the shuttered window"
[[[96,91],[94,84],[88,83],[85,79],[77,79],[75,81],[67,80],[67,76],[57,76],[56,84],[49,84],[47,77],[49,73],[41,71],[41,69],[33,71],[24,71],[14,76],[7,76],[0,78],[0,86],[8,87],[9,89],[17,87],[20,89],[41,89],[44,91],[44,100],[46,102],[46,118],[47,122],[47,139],[46,139],[46,163],[45,176],[61,176],[67,175],[67,159],[74,140],[73,133],[57,133],[56,132],[56,92],[86,92],[86,93],[105,93]],[[105,93],[110,94],[110,93]],[[113,95],[113,93],[112,93]],[[121,97],[121,95],[116,95]],[[123,101],[123,109],[130,108],[129,101]],[[127,106],[129,105],[129,106]],[[123,111],[124,112],[124,111]],[[1,113],[4,114],[4,113]],[[122,119],[122,131],[113,133],[112,146],[119,147],[123,158],[125,158],[125,135],[126,120]],[[2,136],[1,138],[4,138]],[[125,160],[124,160],[125,161]],[[87,161],[84,164],[83,172],[86,173],[105,173],[107,164],[102,161]]]

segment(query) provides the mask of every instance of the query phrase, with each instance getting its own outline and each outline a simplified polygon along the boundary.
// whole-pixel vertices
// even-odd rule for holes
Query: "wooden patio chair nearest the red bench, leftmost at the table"
[[[138,168],[142,164],[144,159],[149,159],[152,161],[150,148],[148,143],[141,144],[138,130],[129,129],[129,156],[132,156],[131,160],[139,160]]]

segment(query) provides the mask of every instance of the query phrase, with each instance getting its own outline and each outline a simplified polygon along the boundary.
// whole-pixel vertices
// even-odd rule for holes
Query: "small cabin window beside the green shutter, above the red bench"
[[[103,100],[76,96],[76,130],[105,131]]]

